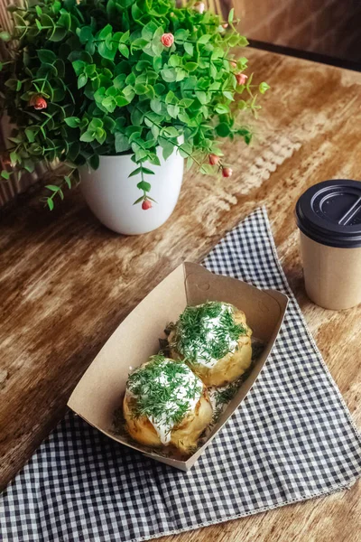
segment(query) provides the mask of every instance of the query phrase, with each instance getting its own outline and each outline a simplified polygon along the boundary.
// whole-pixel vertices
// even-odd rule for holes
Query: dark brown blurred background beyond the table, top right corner
[[[361,68],[361,0],[214,0],[232,5],[251,44],[335,65]]]

